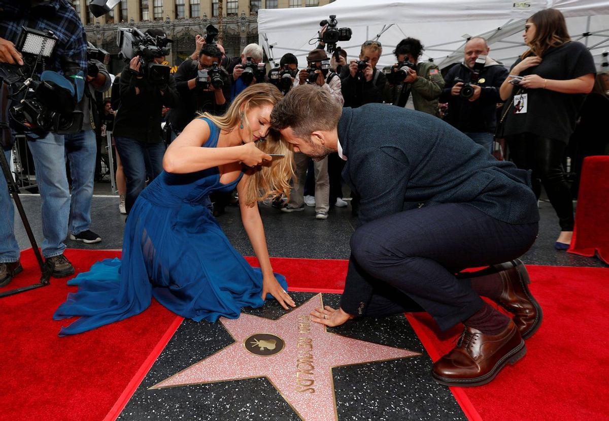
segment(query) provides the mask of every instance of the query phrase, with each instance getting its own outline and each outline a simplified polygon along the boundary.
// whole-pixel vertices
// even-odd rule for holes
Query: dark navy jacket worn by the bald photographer
[[[456,78],[464,82],[471,81],[471,70],[463,63],[452,66],[444,80],[446,85],[440,94],[440,102],[448,102],[445,121],[464,133],[495,133],[497,126],[496,105],[503,102],[499,96],[499,88],[508,75],[507,69],[487,58],[487,64],[480,72],[478,85],[482,87],[480,97],[476,101],[464,99],[459,95],[451,95],[451,89],[457,83]]]

